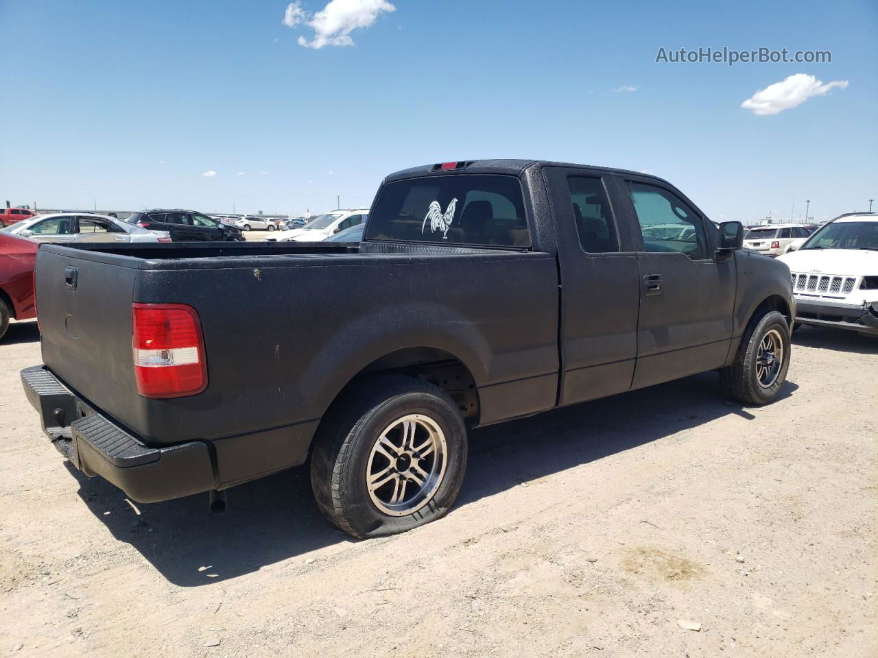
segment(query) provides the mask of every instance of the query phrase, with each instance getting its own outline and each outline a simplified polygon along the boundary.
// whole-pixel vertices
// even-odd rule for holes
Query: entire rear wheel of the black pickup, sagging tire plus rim
[[[466,456],[466,426],[445,391],[377,377],[327,412],[312,454],[314,498],[354,537],[403,533],[449,511]]]

